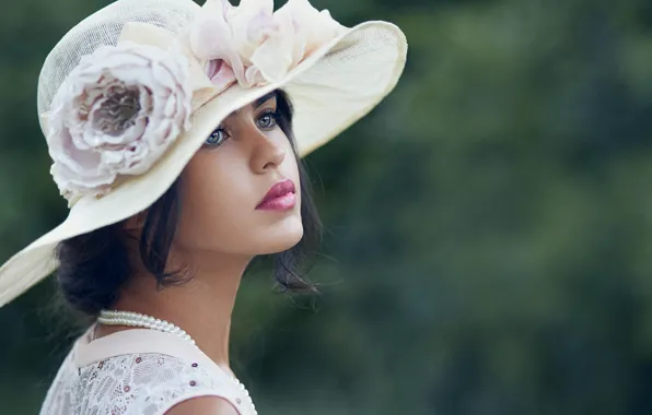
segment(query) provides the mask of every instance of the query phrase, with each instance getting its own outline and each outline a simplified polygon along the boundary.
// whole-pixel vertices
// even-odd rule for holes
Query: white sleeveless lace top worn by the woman
[[[220,396],[241,415],[255,414],[244,387],[190,343],[148,329],[91,341],[93,329],[63,360],[42,415],[162,415],[196,396]]]

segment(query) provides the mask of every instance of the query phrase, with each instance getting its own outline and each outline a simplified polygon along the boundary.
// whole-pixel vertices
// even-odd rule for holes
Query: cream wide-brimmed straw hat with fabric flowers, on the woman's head
[[[385,22],[341,26],[307,0],[118,0],[48,55],[38,115],[66,221],[0,268],[0,307],[57,268],[61,240],[145,210],[234,110],[277,88],[300,155],[366,115],[407,52]]]

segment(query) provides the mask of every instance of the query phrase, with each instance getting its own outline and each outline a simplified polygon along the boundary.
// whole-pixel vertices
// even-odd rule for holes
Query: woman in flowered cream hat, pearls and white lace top
[[[0,305],[58,268],[95,322],[43,414],[255,413],[229,367],[240,280],[273,254],[282,286],[312,289],[300,156],[389,93],[407,48],[388,23],[270,1],[118,0],[46,59],[38,112],[70,213],[0,268]]]

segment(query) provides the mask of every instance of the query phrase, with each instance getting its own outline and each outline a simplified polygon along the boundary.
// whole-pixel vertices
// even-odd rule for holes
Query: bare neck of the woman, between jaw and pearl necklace
[[[190,260],[187,260],[187,256],[185,258],[185,261],[172,260],[170,269],[183,269],[181,276],[189,278],[187,283],[158,289],[154,276],[141,270],[123,288],[114,308],[176,324],[216,364],[230,370],[231,316],[242,275],[251,258],[214,253],[193,256]],[[193,264],[191,269],[183,268],[187,263]],[[101,335],[118,330],[126,328],[103,327]]]

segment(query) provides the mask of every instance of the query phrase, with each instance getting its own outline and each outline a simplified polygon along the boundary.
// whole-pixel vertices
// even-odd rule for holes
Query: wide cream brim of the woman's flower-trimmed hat
[[[154,203],[234,110],[271,91],[284,90],[294,107],[294,135],[304,156],[364,117],[394,88],[406,54],[405,35],[398,27],[366,22],[315,51],[280,82],[226,90],[193,114],[191,129],[149,171],[129,177],[100,199],[80,199],[62,224],[4,263],[0,268],[0,307],[57,269],[57,244],[124,221]]]

